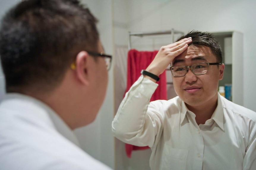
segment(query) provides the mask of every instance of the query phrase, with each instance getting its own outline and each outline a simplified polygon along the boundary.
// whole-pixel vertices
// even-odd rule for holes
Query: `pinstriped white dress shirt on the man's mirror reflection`
[[[157,84],[143,75],[126,93],[112,123],[115,137],[148,145],[152,170],[249,170],[256,158],[256,113],[222,96],[197,125],[177,96],[149,102]]]

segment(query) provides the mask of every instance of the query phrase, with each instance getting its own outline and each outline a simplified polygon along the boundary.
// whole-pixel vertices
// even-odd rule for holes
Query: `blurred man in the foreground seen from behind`
[[[106,93],[111,56],[96,22],[77,0],[24,1],[4,16],[1,170],[110,169],[71,142]]]

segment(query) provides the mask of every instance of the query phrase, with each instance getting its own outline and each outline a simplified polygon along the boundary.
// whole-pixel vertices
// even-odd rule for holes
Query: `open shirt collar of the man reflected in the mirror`
[[[187,106],[185,104],[184,101],[182,101],[181,103],[181,122],[180,124],[182,124],[182,122],[185,119],[185,116],[187,114],[189,110],[187,109]],[[213,119],[217,125],[224,131],[224,123],[223,123],[223,105],[221,102],[221,98],[220,95],[218,94],[218,105],[217,108],[215,109],[214,113],[211,116],[211,119]]]

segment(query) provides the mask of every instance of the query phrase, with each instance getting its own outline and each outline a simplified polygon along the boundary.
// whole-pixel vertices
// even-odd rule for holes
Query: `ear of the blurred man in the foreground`
[[[88,67],[89,54],[86,51],[80,51],[76,56],[76,75],[78,80],[84,85],[89,84]]]

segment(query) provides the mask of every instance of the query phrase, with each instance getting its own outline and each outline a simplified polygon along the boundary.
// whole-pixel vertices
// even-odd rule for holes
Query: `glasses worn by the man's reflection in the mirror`
[[[183,77],[189,71],[189,68],[195,75],[203,75],[208,72],[209,65],[220,65],[221,63],[197,63],[191,66],[173,66],[170,70],[174,77]]]

